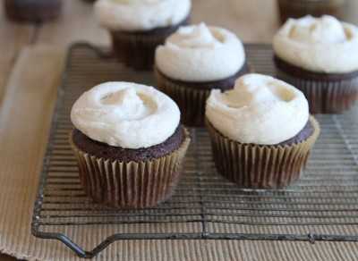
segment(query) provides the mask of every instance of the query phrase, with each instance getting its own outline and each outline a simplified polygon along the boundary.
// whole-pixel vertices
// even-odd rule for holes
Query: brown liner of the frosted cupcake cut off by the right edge
[[[341,80],[303,79],[277,68],[277,78],[303,92],[311,114],[342,114],[358,98],[357,76]]]

